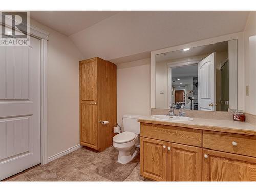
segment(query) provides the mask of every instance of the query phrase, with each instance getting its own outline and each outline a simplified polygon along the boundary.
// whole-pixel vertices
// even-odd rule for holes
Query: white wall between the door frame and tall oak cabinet
[[[47,51],[48,157],[79,144],[79,64],[73,42],[31,20],[50,33]]]

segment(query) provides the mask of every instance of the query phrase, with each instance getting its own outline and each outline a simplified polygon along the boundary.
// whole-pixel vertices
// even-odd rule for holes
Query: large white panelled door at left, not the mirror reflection
[[[40,163],[40,40],[0,47],[0,180]]]

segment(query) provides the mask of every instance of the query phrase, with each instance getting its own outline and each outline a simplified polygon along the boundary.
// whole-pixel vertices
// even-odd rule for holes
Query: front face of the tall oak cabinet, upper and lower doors
[[[98,149],[97,62],[96,58],[79,62],[80,144]]]

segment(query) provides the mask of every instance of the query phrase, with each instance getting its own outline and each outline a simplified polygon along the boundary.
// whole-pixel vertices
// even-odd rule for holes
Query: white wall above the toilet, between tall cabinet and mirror
[[[150,59],[117,65],[117,122],[124,114],[150,114]]]

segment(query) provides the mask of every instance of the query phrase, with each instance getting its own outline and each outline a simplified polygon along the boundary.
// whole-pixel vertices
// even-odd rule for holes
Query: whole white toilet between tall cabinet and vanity
[[[135,144],[139,144],[140,115],[123,115],[124,132],[113,137],[113,146],[119,150],[117,162],[126,164],[136,157]]]

